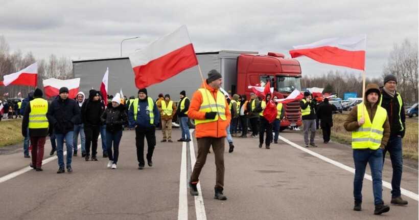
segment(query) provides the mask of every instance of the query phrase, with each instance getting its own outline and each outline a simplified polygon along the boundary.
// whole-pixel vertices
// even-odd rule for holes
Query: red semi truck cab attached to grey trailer
[[[288,97],[292,91],[301,91],[301,67],[296,59],[285,58],[280,53],[268,55],[241,54],[237,59],[237,93],[250,97],[249,85],[270,81],[274,95]],[[281,130],[288,126],[301,126],[299,100],[284,105],[285,117],[281,121]]]

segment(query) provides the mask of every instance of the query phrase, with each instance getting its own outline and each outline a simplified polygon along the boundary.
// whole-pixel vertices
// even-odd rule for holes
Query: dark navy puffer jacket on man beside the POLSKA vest
[[[65,134],[81,123],[80,109],[74,99],[57,98],[48,107],[46,118],[54,126],[55,134]]]

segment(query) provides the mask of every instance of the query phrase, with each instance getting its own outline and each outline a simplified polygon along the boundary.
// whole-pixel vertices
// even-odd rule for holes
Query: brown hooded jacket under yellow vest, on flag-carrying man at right
[[[375,85],[375,84],[372,84],[372,85],[368,84],[367,87],[365,88],[365,93],[370,89],[379,90],[379,87],[378,85]],[[377,106],[378,106],[379,101],[380,101],[380,97],[378,98],[377,103],[375,103],[373,107],[371,107],[371,105],[367,101],[367,96],[365,95],[364,101],[362,102],[364,103],[367,109],[368,116],[371,122],[373,121],[374,116],[377,112]],[[362,109],[358,109],[358,105],[352,108],[351,112],[349,113],[348,117],[343,123],[343,127],[345,128],[345,130],[355,131],[360,127],[358,125],[358,111],[362,111]],[[384,131],[383,131],[383,139],[381,140],[381,146],[380,146],[381,148],[384,148],[385,146],[387,146],[387,142],[390,137],[390,124],[388,123],[388,116],[386,117],[386,121],[383,124],[383,128],[384,128]]]

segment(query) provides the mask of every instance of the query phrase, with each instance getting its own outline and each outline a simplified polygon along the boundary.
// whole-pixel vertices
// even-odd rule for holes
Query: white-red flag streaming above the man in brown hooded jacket
[[[366,35],[323,39],[293,48],[292,58],[307,56],[322,63],[365,70]]]

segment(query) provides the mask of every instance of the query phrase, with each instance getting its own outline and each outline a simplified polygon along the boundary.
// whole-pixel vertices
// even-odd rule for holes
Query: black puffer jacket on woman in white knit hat
[[[122,125],[128,123],[128,116],[125,113],[125,106],[118,105],[113,107],[112,102],[108,103],[107,108],[101,117],[102,124],[106,124],[106,130],[115,132],[122,130]]]

